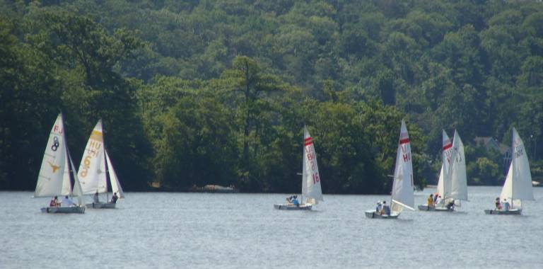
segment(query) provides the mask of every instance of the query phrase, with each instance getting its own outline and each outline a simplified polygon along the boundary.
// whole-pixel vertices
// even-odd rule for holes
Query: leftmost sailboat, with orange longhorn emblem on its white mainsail
[[[71,188],[71,179],[74,180],[74,192],[72,192]],[[42,212],[85,212],[85,207],[82,206],[81,185],[74,169],[74,161],[71,160],[68,145],[66,144],[62,113],[57,116],[57,120],[55,120],[49,134],[49,140],[47,141],[47,147],[45,147],[42,166],[37,177],[36,190],[34,192],[34,197],[52,197],[57,195],[77,195],[78,204],[72,206],[61,204],[58,207],[43,207],[41,209]]]

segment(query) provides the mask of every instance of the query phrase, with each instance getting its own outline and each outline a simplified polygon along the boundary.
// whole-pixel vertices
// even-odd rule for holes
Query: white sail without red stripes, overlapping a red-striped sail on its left
[[[467,200],[467,177],[464,144],[455,130],[452,139],[452,164],[450,166],[450,197]]]

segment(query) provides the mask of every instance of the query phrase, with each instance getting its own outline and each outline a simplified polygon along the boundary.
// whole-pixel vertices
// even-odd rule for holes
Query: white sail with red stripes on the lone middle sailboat
[[[317,201],[323,201],[319,167],[317,166],[315,147],[313,147],[313,138],[305,126],[303,127],[303,137],[302,194],[308,199],[308,203],[316,204]]]

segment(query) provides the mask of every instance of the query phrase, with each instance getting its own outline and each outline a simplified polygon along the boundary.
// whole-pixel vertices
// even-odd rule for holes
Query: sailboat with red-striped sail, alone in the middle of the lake
[[[317,166],[317,154],[313,146],[313,138],[308,128],[303,127],[303,156],[302,156],[302,203],[274,205],[276,210],[311,210],[313,205],[322,200],[320,188],[319,167]],[[303,201],[305,197],[305,202]]]

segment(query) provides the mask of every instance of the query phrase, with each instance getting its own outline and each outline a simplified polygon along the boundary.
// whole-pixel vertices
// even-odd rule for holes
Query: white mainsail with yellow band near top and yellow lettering
[[[79,165],[78,178],[81,182],[83,195],[105,193],[107,183],[105,178],[104,139],[102,135],[102,120],[98,120],[91,137],[89,137],[81,164]]]

